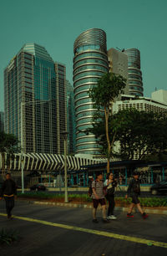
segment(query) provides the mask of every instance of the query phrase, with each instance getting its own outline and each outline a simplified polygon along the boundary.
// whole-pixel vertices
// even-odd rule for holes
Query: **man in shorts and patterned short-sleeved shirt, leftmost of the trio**
[[[96,218],[97,208],[99,203],[102,207],[102,214],[103,214],[103,222],[109,223],[109,220],[106,218],[106,202],[104,198],[104,182],[103,182],[103,174],[99,173],[97,178],[94,182],[92,182],[92,198],[93,198],[93,223],[99,223]]]

